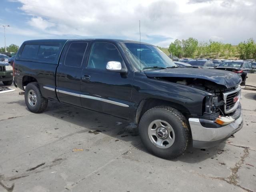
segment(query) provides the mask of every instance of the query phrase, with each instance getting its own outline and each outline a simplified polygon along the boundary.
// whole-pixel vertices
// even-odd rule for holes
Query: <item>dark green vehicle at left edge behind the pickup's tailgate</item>
[[[0,81],[2,81],[4,85],[11,85],[12,80],[12,66],[6,62],[0,61]]]

